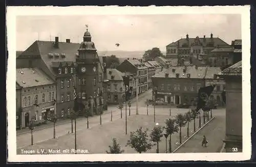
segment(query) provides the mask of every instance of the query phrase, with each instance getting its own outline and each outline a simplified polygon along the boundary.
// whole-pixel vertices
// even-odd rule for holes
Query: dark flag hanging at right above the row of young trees
[[[197,111],[199,111],[201,108],[205,107],[205,104],[207,100],[209,99],[209,96],[211,92],[214,90],[214,87],[216,84],[212,84],[210,86],[201,87],[198,91],[198,103],[197,103]]]

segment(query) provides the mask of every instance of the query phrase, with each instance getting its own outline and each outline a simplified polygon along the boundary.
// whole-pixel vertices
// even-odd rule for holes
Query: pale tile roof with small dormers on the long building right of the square
[[[173,72],[173,69],[175,69],[175,72]],[[182,66],[170,67],[156,74],[154,77],[164,78],[165,73],[168,73],[168,78],[176,78],[176,74],[179,74],[179,78],[187,78],[187,74],[190,74],[190,78],[203,79],[206,72],[206,67],[198,67],[196,69],[195,66],[187,66],[185,73],[183,72],[183,69],[184,67]]]

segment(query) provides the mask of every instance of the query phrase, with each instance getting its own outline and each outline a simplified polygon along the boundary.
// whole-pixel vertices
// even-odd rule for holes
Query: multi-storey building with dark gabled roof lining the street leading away
[[[124,60],[116,68],[122,73],[128,72],[132,75],[138,75],[138,94],[147,90],[147,67],[145,63],[138,59]]]

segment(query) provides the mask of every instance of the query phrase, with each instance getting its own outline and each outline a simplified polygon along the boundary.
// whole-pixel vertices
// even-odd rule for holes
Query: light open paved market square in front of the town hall
[[[129,134],[135,131],[140,126],[147,127],[150,131],[155,126],[154,108],[148,107],[148,114],[146,115],[146,106],[144,101],[151,97],[151,91],[141,94],[139,97],[139,115],[136,115],[136,102],[132,103],[131,116],[127,116],[127,135],[125,135],[125,107],[122,110],[122,119],[120,118],[120,110],[116,105],[109,106],[108,111],[102,115],[102,125],[99,125],[99,116],[89,118],[89,129],[87,129],[86,118],[77,121],[77,148],[88,149],[90,153],[105,153],[108,146],[111,145],[111,139],[116,137],[122,149],[126,153],[136,153],[134,149],[129,146],[125,147]],[[135,99],[136,100],[136,99]],[[111,110],[113,113],[113,122],[111,122]],[[172,108],[171,115],[174,118],[177,113],[185,113],[188,109]],[[214,110],[215,116],[222,116],[225,113],[222,110]],[[129,107],[127,106],[127,115],[129,115]],[[169,117],[169,108],[156,106],[156,122],[160,126],[164,126],[164,121]],[[203,120],[201,121],[203,123]],[[186,139],[186,127],[182,128],[182,140]],[[198,119],[196,120],[196,127],[199,129]],[[39,128],[39,127],[36,127]],[[189,132],[193,131],[193,121],[189,124]],[[70,133],[69,133],[70,132]],[[53,139],[53,128],[45,128],[33,132],[34,146],[31,145],[31,134],[20,134],[17,136],[17,153],[20,149],[40,149],[40,148],[59,148],[67,149],[74,148],[74,134],[71,133],[71,123],[56,126],[57,138]],[[190,134],[191,135],[191,134]],[[95,137],[97,136],[97,137]],[[207,135],[206,135],[207,136]],[[169,139],[169,137],[167,138]],[[172,136],[172,150],[179,145],[179,133]],[[160,153],[165,153],[165,138],[159,144]],[[147,151],[147,153],[155,153],[156,148]]]

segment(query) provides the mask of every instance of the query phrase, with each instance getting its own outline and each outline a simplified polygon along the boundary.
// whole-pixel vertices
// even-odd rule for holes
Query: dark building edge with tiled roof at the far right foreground
[[[219,76],[226,82],[225,152],[242,152],[242,61],[224,69]]]

